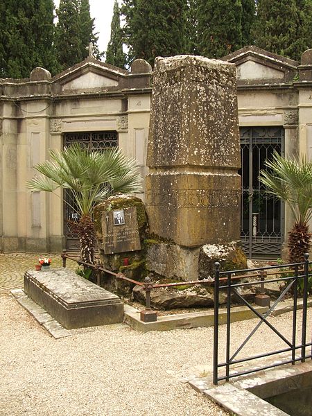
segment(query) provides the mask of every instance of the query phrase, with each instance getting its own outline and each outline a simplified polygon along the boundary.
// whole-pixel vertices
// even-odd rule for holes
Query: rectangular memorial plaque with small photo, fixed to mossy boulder
[[[104,254],[141,250],[136,207],[103,212],[102,232]]]

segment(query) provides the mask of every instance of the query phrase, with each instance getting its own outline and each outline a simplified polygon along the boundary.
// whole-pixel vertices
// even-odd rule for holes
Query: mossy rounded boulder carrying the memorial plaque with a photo
[[[129,195],[111,196],[95,207],[94,223],[103,266],[132,279],[144,279],[148,225],[142,200]],[[128,284],[124,286],[108,275],[103,284],[121,295],[129,291]]]

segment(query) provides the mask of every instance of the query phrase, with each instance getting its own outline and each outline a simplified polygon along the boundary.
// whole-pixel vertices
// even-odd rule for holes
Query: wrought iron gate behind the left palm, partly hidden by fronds
[[[66,133],[64,135],[64,147],[70,146],[72,143],[79,143],[85,148],[92,150],[104,150],[118,146],[117,132],[79,132]],[[64,191],[64,236],[66,240],[66,249],[69,251],[78,250],[78,237],[72,231],[69,224],[70,221],[77,221],[76,205],[73,200],[71,191]]]

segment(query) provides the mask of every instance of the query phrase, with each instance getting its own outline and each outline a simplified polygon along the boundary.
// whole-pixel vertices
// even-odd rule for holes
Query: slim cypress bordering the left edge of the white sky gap
[[[87,58],[89,51],[86,49],[89,43],[92,42],[94,49],[93,55],[95,58],[101,59],[102,54],[98,51],[98,36],[94,33],[94,19],[90,15],[89,0],[80,0],[80,43],[81,56],[83,59]]]

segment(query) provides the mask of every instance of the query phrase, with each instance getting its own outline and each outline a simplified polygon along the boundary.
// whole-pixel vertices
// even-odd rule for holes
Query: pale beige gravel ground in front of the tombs
[[[290,316],[272,318],[286,336]],[[236,345],[256,322],[232,325]],[[1,416],[227,415],[181,381],[211,370],[211,327],[143,334],[121,324],[72,333],[51,338],[12,297],[0,296]],[[277,337],[262,325],[245,354],[263,346],[277,347]]]

